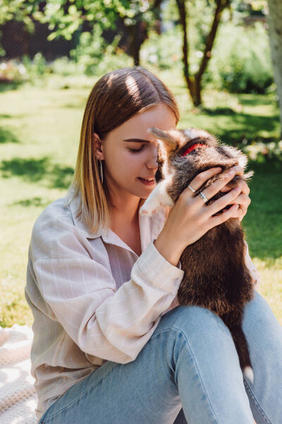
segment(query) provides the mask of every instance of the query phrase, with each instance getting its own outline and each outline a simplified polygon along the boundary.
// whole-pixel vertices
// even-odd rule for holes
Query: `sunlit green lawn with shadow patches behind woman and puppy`
[[[162,78],[180,105],[179,127],[198,126],[223,141],[278,138],[274,95],[208,91],[203,110],[193,110],[180,75]],[[0,325],[32,324],[24,298],[32,225],[51,201],[63,196],[75,167],[85,100],[94,79],[61,79],[0,93],[1,278]],[[282,323],[281,181],[277,163],[252,163],[255,176],[243,220],[251,256],[262,274],[259,292]]]

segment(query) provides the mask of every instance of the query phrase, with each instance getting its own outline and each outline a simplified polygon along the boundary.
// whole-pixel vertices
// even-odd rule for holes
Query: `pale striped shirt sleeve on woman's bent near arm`
[[[44,301],[67,334],[94,357],[128,363],[176,297],[183,271],[150,243],[118,290],[111,272],[90,256],[89,240],[63,220],[37,223],[32,266]]]

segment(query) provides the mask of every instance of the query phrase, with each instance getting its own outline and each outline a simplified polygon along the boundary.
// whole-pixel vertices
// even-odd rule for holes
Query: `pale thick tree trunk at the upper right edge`
[[[282,1],[269,0],[269,40],[271,47],[274,81],[280,106],[280,124],[282,139]]]

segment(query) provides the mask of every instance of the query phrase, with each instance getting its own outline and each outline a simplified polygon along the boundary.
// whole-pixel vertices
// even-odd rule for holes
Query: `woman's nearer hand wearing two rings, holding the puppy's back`
[[[243,172],[242,167],[233,168],[226,173],[224,178],[218,179],[202,190],[207,199],[211,199],[222,189],[224,191],[235,174],[240,175]],[[220,172],[221,168],[211,168],[200,172],[192,179],[190,187],[197,191],[208,179]],[[243,190],[246,191],[244,184],[240,184],[239,187],[232,190],[228,188],[228,192],[224,196],[207,206],[200,196],[195,196],[188,188],[185,189],[171,208],[164,228],[154,242],[159,253],[171,264],[176,265],[185,247],[199,240],[211,228],[229,218],[243,218],[243,209],[241,210],[239,207],[242,205],[245,208],[247,204]],[[231,204],[233,205],[231,208],[224,210],[227,205]],[[221,210],[223,210],[222,213],[215,215]]]

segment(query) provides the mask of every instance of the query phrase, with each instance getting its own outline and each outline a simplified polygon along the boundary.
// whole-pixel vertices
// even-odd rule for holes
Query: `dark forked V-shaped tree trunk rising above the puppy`
[[[176,0],[178,6],[180,25],[183,29],[183,73],[184,78],[190,92],[193,105],[195,107],[202,104],[202,76],[204,71],[207,69],[207,64],[209,59],[212,56],[212,46],[214,45],[214,40],[216,37],[216,31],[219,27],[219,22],[221,20],[221,15],[223,9],[230,5],[231,0],[215,0],[214,8],[214,18],[212,20],[212,25],[207,33],[204,42],[204,52],[202,52],[202,61],[200,63],[199,69],[195,74],[190,73],[190,63],[189,63],[189,40],[188,40],[188,30],[187,30],[187,21],[188,13],[186,10],[187,2],[185,0]]]

